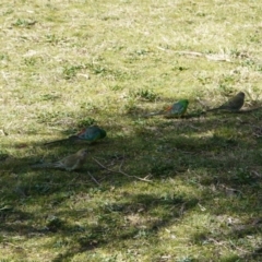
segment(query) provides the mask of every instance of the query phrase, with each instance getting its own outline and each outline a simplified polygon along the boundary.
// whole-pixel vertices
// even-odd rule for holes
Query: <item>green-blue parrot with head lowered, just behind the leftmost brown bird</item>
[[[59,142],[63,142],[63,141],[70,141],[70,142],[87,141],[87,142],[94,143],[97,140],[106,138],[106,135],[107,135],[107,133],[106,133],[106,131],[104,129],[102,129],[102,128],[99,128],[97,126],[91,126],[91,127],[88,127],[86,129],[83,129],[78,134],[70,135],[67,139],[47,142],[44,145],[59,143]]]

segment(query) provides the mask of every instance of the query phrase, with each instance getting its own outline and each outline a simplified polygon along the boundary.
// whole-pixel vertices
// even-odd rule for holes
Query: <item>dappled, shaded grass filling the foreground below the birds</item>
[[[59,250],[48,257],[52,261],[157,261],[165,253],[171,259],[172,249],[181,245],[189,245],[191,260],[216,260],[216,252],[222,252],[219,260],[240,259],[239,252],[243,261],[246,255],[255,258],[257,251],[249,250],[252,241],[260,241],[261,176],[260,152],[252,147],[261,142],[247,140],[250,127],[242,122],[248,119],[236,120],[235,114],[190,121],[145,119],[134,123],[133,135],[109,136],[88,146],[105,166],[114,169],[124,159],[128,174],[151,175],[152,183],[109,174],[92,159],[86,168],[86,168],[73,174],[33,171],[32,157],[5,159],[1,184],[11,187],[1,191],[3,247],[24,255],[33,237],[39,250]],[[204,135],[217,121],[227,127]],[[206,124],[209,129],[201,128]],[[49,146],[46,158],[52,158],[53,151],[71,151],[68,146]]]

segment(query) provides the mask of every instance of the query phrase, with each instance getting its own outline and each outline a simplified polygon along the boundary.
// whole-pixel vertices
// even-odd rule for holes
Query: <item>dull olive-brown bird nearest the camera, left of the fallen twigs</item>
[[[73,155],[69,155],[61,160],[55,163],[44,163],[38,165],[33,165],[33,168],[61,168],[67,171],[73,171],[82,167],[86,160],[87,151],[85,148],[78,151]]]

